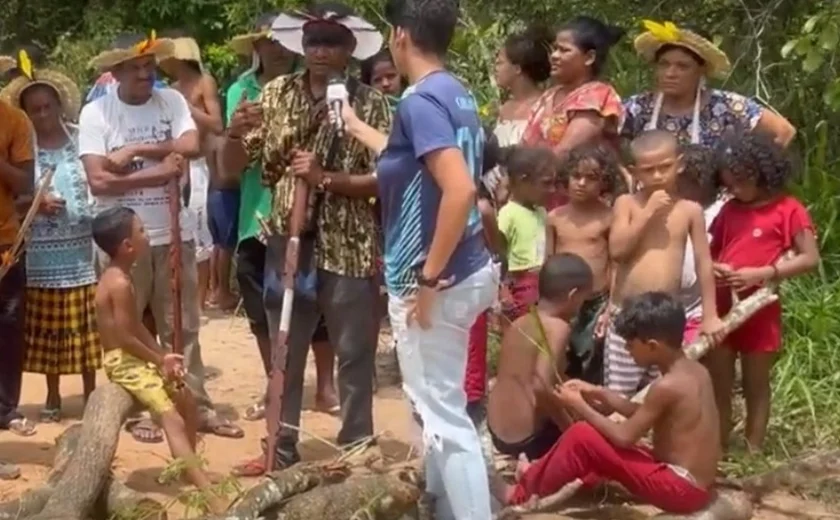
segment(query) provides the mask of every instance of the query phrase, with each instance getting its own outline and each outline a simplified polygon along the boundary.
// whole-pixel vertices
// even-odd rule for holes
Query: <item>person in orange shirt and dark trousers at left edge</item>
[[[13,58],[0,57],[0,74],[17,67]],[[0,429],[32,435],[35,427],[18,411],[23,372],[26,260],[16,261],[10,249],[20,233],[18,197],[32,193],[35,175],[32,127],[26,114],[0,100],[0,262],[13,265],[0,279]],[[0,479],[20,476],[14,466],[0,462]]]

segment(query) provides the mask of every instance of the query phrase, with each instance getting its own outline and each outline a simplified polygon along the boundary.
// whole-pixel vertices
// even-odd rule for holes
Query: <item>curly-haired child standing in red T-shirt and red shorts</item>
[[[814,225],[801,202],[785,186],[793,173],[790,158],[769,137],[739,136],[722,154],[721,181],[733,198],[712,223],[712,258],[718,280],[718,312],[761,285],[805,274],[819,263]],[[786,251],[795,256],[780,261]],[[770,418],[770,370],[782,343],[782,307],[775,302],[732,332],[708,356],[720,412],[721,442],[731,432],[735,359],[740,355],[747,402],[746,440],[760,450]]]

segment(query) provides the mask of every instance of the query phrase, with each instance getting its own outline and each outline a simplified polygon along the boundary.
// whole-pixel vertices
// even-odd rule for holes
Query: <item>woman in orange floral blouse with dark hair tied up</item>
[[[617,145],[621,98],[598,79],[610,48],[624,31],[588,16],[579,16],[556,34],[551,52],[554,86],[537,101],[522,143],[549,146],[564,156],[577,145],[607,139]],[[562,191],[562,190],[561,190]],[[565,202],[558,192],[548,209]]]

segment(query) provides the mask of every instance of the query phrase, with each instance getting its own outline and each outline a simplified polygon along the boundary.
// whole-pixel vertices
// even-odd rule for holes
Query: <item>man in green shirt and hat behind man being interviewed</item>
[[[271,23],[277,13],[264,13],[254,21],[251,30],[235,36],[230,47],[240,57],[250,61],[246,69],[228,88],[225,100],[227,121],[233,116],[241,101],[256,101],[263,86],[277,76],[289,74],[295,66],[295,54],[270,38]],[[236,277],[242,306],[248,316],[251,333],[257,340],[266,375],[271,372],[271,341],[268,334],[268,321],[263,305],[263,278],[265,272],[266,248],[260,239],[260,226],[255,215],[268,215],[271,212],[271,190],[262,184],[262,170],[258,164],[251,164],[244,171],[219,170],[223,184],[237,185],[238,189],[219,190],[223,192],[219,200],[228,200],[226,191],[237,197],[236,204],[225,204],[223,208],[214,207],[214,218],[236,220]],[[330,376],[333,372],[333,353],[329,354]],[[319,364],[318,353],[315,363]],[[321,373],[321,370],[319,370]],[[330,378],[332,382],[332,378]],[[333,389],[334,385],[330,385]],[[318,388],[321,388],[319,382]],[[321,392],[318,392],[321,393]],[[333,389],[333,394],[335,390]],[[317,397],[316,397],[317,400]],[[245,418],[251,421],[261,420],[265,413],[265,396],[245,410]]]

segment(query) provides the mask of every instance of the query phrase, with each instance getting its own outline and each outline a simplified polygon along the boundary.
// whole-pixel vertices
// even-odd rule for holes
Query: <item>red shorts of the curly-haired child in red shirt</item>
[[[738,297],[743,300],[756,290],[750,289],[738,294]],[[717,307],[720,316],[725,316],[732,309],[729,287],[718,287]],[[755,313],[732,331],[724,344],[742,354],[778,352],[782,346],[782,304],[775,301]]]

